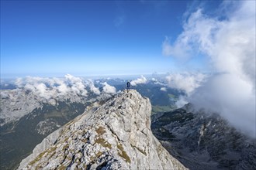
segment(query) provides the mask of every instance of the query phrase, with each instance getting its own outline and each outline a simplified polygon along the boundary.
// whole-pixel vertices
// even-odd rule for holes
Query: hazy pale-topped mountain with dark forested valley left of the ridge
[[[0,90],[0,169],[18,168],[43,138],[82,114],[93,98],[67,93],[45,100],[21,88]]]

